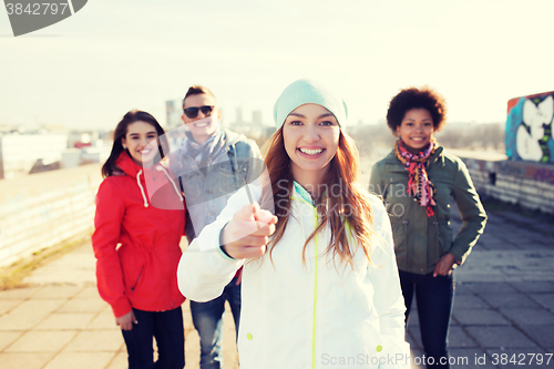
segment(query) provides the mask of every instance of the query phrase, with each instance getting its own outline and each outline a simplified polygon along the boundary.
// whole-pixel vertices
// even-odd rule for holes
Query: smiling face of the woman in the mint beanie
[[[305,187],[321,183],[337,153],[339,136],[337,119],[321,105],[300,105],[287,116],[283,137],[296,182]]]

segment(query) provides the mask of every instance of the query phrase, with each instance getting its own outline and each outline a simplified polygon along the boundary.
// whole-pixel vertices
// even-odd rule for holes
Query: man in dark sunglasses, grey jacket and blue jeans
[[[191,243],[213,223],[233,193],[256,177],[252,158],[259,160],[253,140],[219,126],[222,113],[214,94],[202,85],[188,89],[183,100],[186,139],[171,155],[170,165],[179,177],[187,203],[186,236]],[[207,303],[191,300],[193,324],[201,337],[201,369],[223,368],[222,317],[229,303],[238,335],[240,317],[240,273],[222,296]]]

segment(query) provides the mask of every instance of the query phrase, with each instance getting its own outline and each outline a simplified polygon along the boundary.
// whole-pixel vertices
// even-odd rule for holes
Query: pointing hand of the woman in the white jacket
[[[245,205],[222,230],[222,248],[235,259],[255,258],[265,254],[277,217],[259,208],[257,203]]]

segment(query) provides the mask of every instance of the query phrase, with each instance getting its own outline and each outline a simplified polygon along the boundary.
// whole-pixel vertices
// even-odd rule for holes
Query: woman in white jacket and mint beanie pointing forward
[[[390,223],[357,182],[346,104],[298,80],[274,117],[267,182],[232,196],[183,254],[181,291],[217,297],[244,265],[243,369],[409,367]]]

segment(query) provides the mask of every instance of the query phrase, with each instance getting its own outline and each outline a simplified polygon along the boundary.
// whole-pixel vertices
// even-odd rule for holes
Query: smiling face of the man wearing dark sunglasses
[[[217,131],[220,112],[215,105],[215,98],[207,93],[189,95],[183,103],[183,109],[214,106],[214,110],[207,114],[204,114],[202,110],[198,110],[198,115],[195,117],[188,117],[186,114],[182,115],[183,122],[193,134],[194,141],[199,144],[206,142],[206,140]]]

